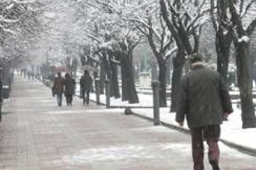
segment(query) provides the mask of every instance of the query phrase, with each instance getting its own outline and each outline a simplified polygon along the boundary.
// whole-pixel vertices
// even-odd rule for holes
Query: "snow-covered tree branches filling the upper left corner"
[[[24,51],[28,39],[38,31],[38,3],[35,1],[7,0],[0,2],[1,62],[17,59],[15,53]],[[19,42],[24,41],[24,42]],[[20,46],[20,49],[17,48]],[[12,54],[12,55],[11,55]],[[19,56],[22,55],[20,52]]]

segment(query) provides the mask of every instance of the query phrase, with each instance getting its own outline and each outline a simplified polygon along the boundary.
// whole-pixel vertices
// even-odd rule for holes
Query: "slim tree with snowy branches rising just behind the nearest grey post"
[[[133,23],[147,38],[148,44],[156,57],[159,66],[158,80],[160,81],[160,107],[166,107],[166,73],[167,63],[176,46],[171,47],[173,38],[163,21],[158,1],[140,1],[137,6],[122,12],[124,20]],[[131,12],[132,11],[132,12]]]

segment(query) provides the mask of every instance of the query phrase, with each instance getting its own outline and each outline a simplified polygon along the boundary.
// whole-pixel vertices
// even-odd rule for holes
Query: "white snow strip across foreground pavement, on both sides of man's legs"
[[[207,145],[205,144],[205,148]],[[207,155],[205,149],[205,155]],[[235,155],[237,158],[247,158],[244,153],[239,153],[234,149],[220,144],[221,152],[228,155]],[[161,151],[161,152],[160,152]],[[122,144],[113,145],[109,147],[95,147],[80,150],[72,155],[63,156],[62,161],[66,164],[77,165],[84,163],[93,163],[93,161],[126,161],[132,162],[134,160],[152,160],[161,159],[166,155],[163,153],[177,152],[184,156],[191,155],[191,145],[186,143],[155,143],[155,144]],[[207,161],[207,159],[205,159]],[[53,161],[54,163],[54,161]]]

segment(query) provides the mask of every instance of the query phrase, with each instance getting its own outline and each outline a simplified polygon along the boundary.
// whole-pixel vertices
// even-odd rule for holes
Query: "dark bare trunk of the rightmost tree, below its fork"
[[[254,105],[252,102],[252,76],[249,71],[249,43],[236,45],[237,81],[241,97],[242,128],[256,127]]]

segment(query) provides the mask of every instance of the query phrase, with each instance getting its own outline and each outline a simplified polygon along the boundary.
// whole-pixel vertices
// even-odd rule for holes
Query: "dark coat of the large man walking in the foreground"
[[[223,113],[233,112],[228,87],[217,71],[197,65],[179,88],[176,121],[184,121],[186,115],[190,128],[221,124]]]

